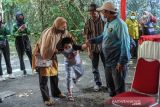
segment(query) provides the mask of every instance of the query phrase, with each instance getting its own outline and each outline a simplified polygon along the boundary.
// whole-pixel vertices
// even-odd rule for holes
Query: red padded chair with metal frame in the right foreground
[[[157,60],[138,59],[131,91],[124,92],[107,100],[106,103],[122,107],[149,107],[157,103],[155,96],[159,91],[160,63]],[[159,98],[159,97],[158,97]]]

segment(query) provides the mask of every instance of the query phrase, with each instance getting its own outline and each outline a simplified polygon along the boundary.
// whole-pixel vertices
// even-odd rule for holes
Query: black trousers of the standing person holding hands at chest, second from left
[[[16,50],[18,53],[19,61],[20,61],[20,68],[21,70],[25,70],[25,64],[24,64],[24,52],[29,58],[30,64],[32,66],[32,49],[30,45],[30,41],[28,36],[18,36],[16,37],[15,41]]]

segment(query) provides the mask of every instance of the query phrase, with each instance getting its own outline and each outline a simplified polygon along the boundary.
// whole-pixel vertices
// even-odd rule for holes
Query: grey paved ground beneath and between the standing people
[[[103,107],[105,99],[109,99],[109,95],[105,89],[105,78],[102,63],[100,63],[100,73],[103,81],[103,88],[100,92],[93,91],[93,74],[91,72],[91,62],[86,54],[81,54],[83,64],[85,67],[84,76],[74,86],[74,102],[69,102],[67,99],[55,99],[54,107]],[[11,57],[13,73],[16,79],[7,79],[0,82],[0,93],[5,91],[15,92],[13,96],[9,96],[0,103],[0,107],[45,107],[42,102],[41,93],[39,90],[38,75],[33,74],[27,58],[25,58],[26,68],[28,71],[27,77],[22,77],[22,72],[19,70],[19,60],[17,55]],[[63,56],[58,55],[59,60],[59,87],[61,91],[66,94],[65,72],[63,64]],[[5,63],[3,62],[3,69],[6,74]],[[130,83],[133,78],[135,69],[135,60],[129,64],[129,76],[127,83]],[[129,86],[127,85],[127,89]],[[107,106],[108,107],[108,106]]]

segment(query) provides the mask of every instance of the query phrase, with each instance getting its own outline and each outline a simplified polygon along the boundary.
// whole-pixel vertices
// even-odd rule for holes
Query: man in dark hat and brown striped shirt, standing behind
[[[88,8],[88,12],[90,14],[90,19],[86,22],[84,27],[84,34],[86,40],[96,37],[103,32],[105,22],[101,19],[100,14],[96,11],[98,6],[94,3],[90,4]],[[94,74],[94,90],[99,91],[100,87],[102,86],[98,64],[99,64],[99,57],[103,62],[103,66],[105,66],[105,58],[101,50],[101,44],[91,44],[88,48],[88,54],[92,61],[92,72]]]

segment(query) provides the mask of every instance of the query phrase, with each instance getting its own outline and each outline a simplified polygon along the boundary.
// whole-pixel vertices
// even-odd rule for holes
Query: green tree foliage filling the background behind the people
[[[4,21],[12,30],[15,23],[15,13],[21,11],[33,33],[30,35],[35,42],[40,33],[53,24],[56,17],[65,17],[68,21],[68,30],[77,38],[79,43],[83,42],[83,27],[88,17],[86,9],[91,2],[99,6],[105,1],[119,4],[120,0],[2,0],[4,10]],[[127,0],[127,11],[136,11],[140,16],[142,11],[151,8],[154,15],[160,15],[158,4],[148,4],[148,0]]]

